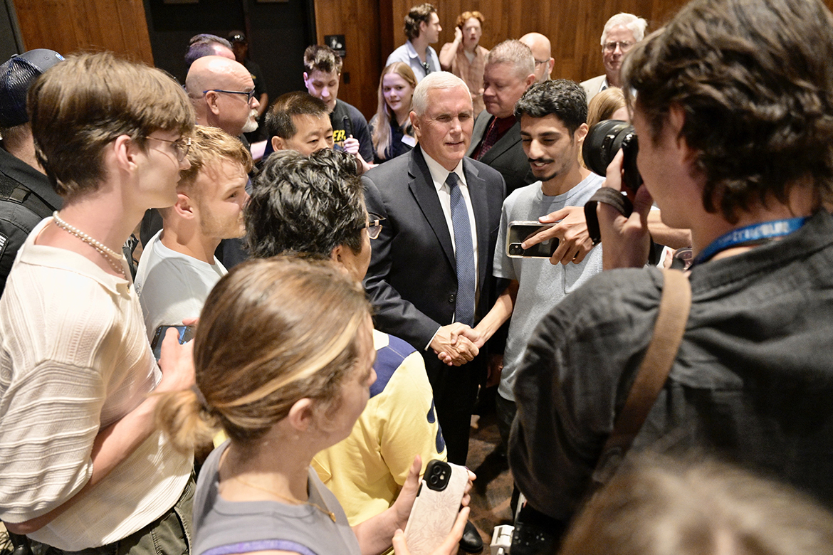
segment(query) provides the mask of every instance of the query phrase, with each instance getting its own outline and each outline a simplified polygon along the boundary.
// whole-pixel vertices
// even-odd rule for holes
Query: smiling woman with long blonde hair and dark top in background
[[[373,161],[381,164],[416,146],[411,126],[411,98],[416,76],[407,63],[393,62],[379,78],[379,105],[370,121]]]

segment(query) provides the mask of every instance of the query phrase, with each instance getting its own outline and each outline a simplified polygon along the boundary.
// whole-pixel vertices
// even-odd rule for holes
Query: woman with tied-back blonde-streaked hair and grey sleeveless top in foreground
[[[367,404],[376,379],[370,311],[362,285],[323,261],[251,260],[208,295],[194,339],[197,384],[165,395],[157,411],[178,448],[217,429],[229,438],[197,482],[194,555],[382,553],[405,528],[418,457],[392,507],[352,529],[310,467]]]

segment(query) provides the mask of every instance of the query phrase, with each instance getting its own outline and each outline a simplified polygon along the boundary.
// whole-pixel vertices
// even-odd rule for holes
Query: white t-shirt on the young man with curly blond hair
[[[181,325],[197,318],[208,294],[228,271],[214,258],[207,264],[162,245],[162,231],[147,241],[136,270],[136,290],[145,317],[148,339],[160,325]]]

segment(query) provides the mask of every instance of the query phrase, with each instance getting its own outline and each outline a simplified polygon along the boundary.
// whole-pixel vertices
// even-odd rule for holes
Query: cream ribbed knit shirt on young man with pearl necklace
[[[92,475],[99,431],[162,379],[130,281],[71,250],[35,245],[50,221],[18,251],[0,298],[0,518],[10,523],[77,493]],[[177,502],[191,469],[192,457],[155,432],[29,537],[66,551],[125,538]]]

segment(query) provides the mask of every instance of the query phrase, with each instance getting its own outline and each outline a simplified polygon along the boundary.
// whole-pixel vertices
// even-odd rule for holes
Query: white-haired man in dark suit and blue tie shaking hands
[[[365,288],[377,329],[423,354],[448,460],[465,464],[486,357],[465,337],[452,344],[451,332],[476,325],[495,298],[491,265],[505,186],[497,171],[464,156],[473,117],[461,79],[429,74],[413,110],[419,146],[362,177],[367,211],[386,218]],[[440,352],[460,365],[443,364]]]

